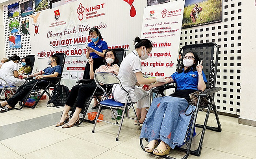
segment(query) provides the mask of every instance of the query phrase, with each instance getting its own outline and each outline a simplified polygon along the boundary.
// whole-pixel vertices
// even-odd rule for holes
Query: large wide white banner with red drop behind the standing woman
[[[50,55],[64,52],[62,83],[70,89],[83,78],[89,30],[98,28],[109,49],[124,48],[129,53],[134,49],[133,40],[141,34],[146,5],[142,0],[77,0],[30,15],[34,69],[45,69]]]

